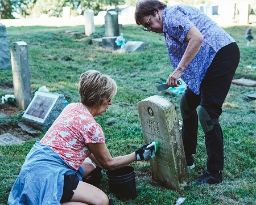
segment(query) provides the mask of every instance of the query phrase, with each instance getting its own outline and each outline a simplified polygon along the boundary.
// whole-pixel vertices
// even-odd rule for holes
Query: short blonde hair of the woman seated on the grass
[[[80,76],[79,94],[83,105],[100,107],[104,100],[112,100],[117,93],[117,84],[109,75],[88,70]]]

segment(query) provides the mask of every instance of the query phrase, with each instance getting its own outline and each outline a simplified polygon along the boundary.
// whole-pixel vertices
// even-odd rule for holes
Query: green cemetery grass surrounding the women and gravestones
[[[241,61],[234,78],[256,80],[256,44],[246,47],[245,26],[224,28],[238,42]],[[256,30],[256,27],[253,27]],[[69,35],[65,31],[76,31]],[[106,144],[112,156],[125,155],[141,146],[143,135],[139,122],[137,102],[152,95],[167,97],[175,103],[179,118],[180,96],[156,91],[156,84],[164,83],[172,72],[163,35],[144,32],[137,25],[123,25],[120,32],[126,41],[145,41],[146,49],[139,53],[110,52],[92,44],[92,39],[104,36],[104,30],[97,26],[90,36],[82,35],[84,27],[9,27],[9,44],[25,41],[28,44],[30,80],[32,94],[42,86],[49,91],[63,94],[68,102],[79,101],[77,86],[79,76],[89,69],[111,75],[118,84],[118,92],[104,116],[96,117],[104,129]],[[13,88],[11,69],[0,70],[1,87]],[[152,182],[147,162],[134,162],[137,172],[137,193],[134,200],[114,204],[174,204],[179,197],[186,197],[184,204],[255,204],[256,201],[256,101],[247,95],[255,93],[253,87],[232,84],[220,117],[224,133],[225,167],[224,182],[221,185],[191,186],[176,192]],[[5,95],[0,89],[0,95]],[[7,120],[1,120],[1,127],[16,125],[21,112]],[[114,123],[107,125],[112,119]],[[20,167],[35,140],[23,146],[0,146],[0,203],[6,204],[11,186],[19,174]],[[195,156],[196,168],[189,170],[190,180],[195,180],[206,167],[204,134],[199,130],[199,141]],[[109,194],[104,178],[99,187]]]

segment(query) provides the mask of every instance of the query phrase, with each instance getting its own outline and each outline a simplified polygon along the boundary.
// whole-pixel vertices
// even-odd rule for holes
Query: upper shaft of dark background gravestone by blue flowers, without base
[[[105,15],[105,36],[119,36],[118,14],[115,11],[108,11]]]

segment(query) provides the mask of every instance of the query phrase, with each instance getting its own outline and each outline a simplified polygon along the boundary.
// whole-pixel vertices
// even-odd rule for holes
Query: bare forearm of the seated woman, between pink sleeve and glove
[[[87,145],[92,152],[92,157],[95,157],[95,159],[97,160],[97,162],[93,159],[92,161],[94,161],[96,164],[98,163],[98,166],[106,170],[122,168],[123,166],[126,166],[136,160],[135,152],[130,153],[129,155],[113,158],[110,155],[105,143],[88,143]]]

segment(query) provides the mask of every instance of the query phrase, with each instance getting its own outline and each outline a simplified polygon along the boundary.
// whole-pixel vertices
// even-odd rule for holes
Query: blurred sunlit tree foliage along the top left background
[[[106,6],[123,5],[126,2],[134,2],[135,0],[0,0],[0,15],[2,19],[14,18],[16,12],[23,18],[37,18],[40,14],[48,14],[49,16],[61,16],[64,6],[71,7],[72,15],[79,15],[77,10],[92,9],[94,14],[99,11],[106,10]]]

